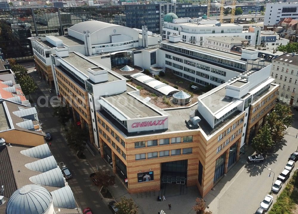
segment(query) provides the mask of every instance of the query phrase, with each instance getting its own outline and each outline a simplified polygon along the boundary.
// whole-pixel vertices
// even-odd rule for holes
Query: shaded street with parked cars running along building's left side
[[[48,86],[45,85],[46,83],[43,80],[39,79],[36,71],[31,74],[38,85],[38,90],[31,94],[30,97],[33,102],[37,103],[38,97],[45,96],[44,92],[48,91]],[[52,134],[53,140],[50,148],[52,154],[58,164],[63,162],[72,172],[73,178],[68,180],[68,183],[72,188],[79,207],[82,210],[90,207],[94,214],[111,213],[107,203],[100,197],[100,188],[94,186],[89,178],[89,175],[94,172],[93,168],[87,160],[78,159],[75,153],[66,145],[66,141],[60,131],[61,125],[58,122],[58,118],[53,117],[52,106],[50,104],[49,107],[40,107],[37,105],[37,110],[38,118],[42,123],[42,130]],[[91,154],[86,150],[86,156],[88,155]]]

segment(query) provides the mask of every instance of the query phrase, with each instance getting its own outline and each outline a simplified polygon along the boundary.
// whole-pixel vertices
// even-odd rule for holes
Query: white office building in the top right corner
[[[298,18],[298,3],[268,3],[266,4],[266,12],[264,25],[276,25],[283,18]]]

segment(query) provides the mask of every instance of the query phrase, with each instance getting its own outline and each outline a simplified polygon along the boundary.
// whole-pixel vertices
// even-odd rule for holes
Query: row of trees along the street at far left
[[[24,66],[17,64],[13,59],[8,61],[11,70],[15,74],[16,83],[20,84],[24,95],[28,95],[30,100],[30,94],[37,89],[34,79],[28,74],[28,70]]]

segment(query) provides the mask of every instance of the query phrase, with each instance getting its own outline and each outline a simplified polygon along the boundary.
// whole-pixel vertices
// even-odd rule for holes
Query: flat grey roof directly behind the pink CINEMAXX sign
[[[128,94],[128,92],[133,91],[133,89],[128,85],[126,87],[126,92],[111,95],[105,97],[105,99],[131,119],[161,116],[160,113]]]

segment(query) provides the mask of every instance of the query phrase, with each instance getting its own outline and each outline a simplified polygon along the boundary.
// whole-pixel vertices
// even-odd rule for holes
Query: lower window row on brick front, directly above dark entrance
[[[171,153],[171,156],[181,155],[181,150],[182,150],[182,154],[191,154],[191,153],[193,153],[193,148],[191,148],[191,147],[190,148],[183,148],[183,149],[163,150],[163,151],[159,151],[159,152],[148,152],[147,153],[147,159],[158,158],[158,157],[167,157],[167,156],[170,156],[170,153]],[[159,155],[158,155],[158,153],[159,153]],[[135,159],[136,160],[146,159],[146,153],[136,154]]]

